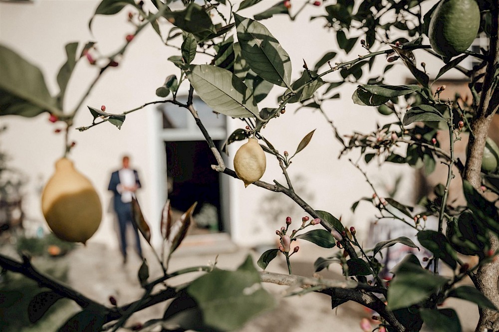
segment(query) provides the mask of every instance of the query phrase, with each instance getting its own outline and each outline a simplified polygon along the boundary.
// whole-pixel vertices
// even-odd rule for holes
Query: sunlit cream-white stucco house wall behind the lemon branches
[[[255,8],[243,10],[241,14],[252,17],[252,14],[269,7],[273,2],[276,1],[262,1]],[[298,7],[299,2],[292,1],[293,6]],[[50,91],[56,94],[58,88],[55,76],[65,60],[65,43],[80,41],[84,44],[88,40],[94,40],[98,42],[100,52],[109,54],[122,45],[126,34],[133,31],[126,22],[125,9],[118,15],[97,16],[93,22],[92,35],[88,30],[88,20],[98,3],[99,1],[94,0],[37,0],[29,4],[0,2],[0,42],[38,65],[45,75]],[[289,53],[293,64],[293,79],[299,77],[303,59],[311,67],[331,49],[339,53],[334,59],[335,62],[351,60],[356,54],[365,54],[365,50],[358,47],[350,55],[344,55],[336,46],[334,33],[323,28],[324,21],[309,20],[311,15],[317,15],[321,10],[323,9],[308,6],[295,22],[290,22],[282,15],[262,21]],[[167,58],[174,54],[174,49],[165,47],[156,33],[150,27],[146,28],[131,43],[119,66],[105,73],[84,105],[99,108],[104,104],[109,112],[120,113],[145,102],[158,100],[155,96],[156,88],[163,84],[167,75],[178,75],[178,69],[167,61]],[[416,56],[418,62],[427,62],[427,69],[436,68],[438,72],[441,64],[428,58],[424,51],[417,51]],[[198,61],[197,59],[196,63],[199,63]],[[381,73],[384,67],[383,59],[378,59],[376,64]],[[85,60],[80,61],[66,94],[66,105],[69,108],[74,107],[95,74],[94,67]],[[452,77],[453,74],[450,75]],[[333,73],[325,79],[337,81],[338,77],[339,73]],[[402,63],[398,63],[387,77],[391,84],[403,84],[409,77],[409,71]],[[366,75],[363,81],[367,81]],[[344,84],[338,89],[341,99],[326,103],[325,110],[342,135],[373,131],[376,122],[383,125],[395,121],[395,117],[378,115],[374,108],[354,105],[351,101],[354,89],[355,85]],[[276,97],[282,92],[282,89],[274,87],[271,94],[259,105],[260,108],[275,107]],[[289,168],[291,178],[298,175],[304,177],[304,191],[313,195],[308,201],[312,207],[327,210],[337,217],[342,216],[345,226],[355,225],[359,230],[367,229],[374,209],[367,208],[365,204],[352,214],[350,206],[362,196],[371,195],[369,185],[362,174],[348,162],[348,157],[338,160],[340,144],[322,115],[311,109],[301,109],[294,114],[295,105],[297,104],[289,105],[286,113],[278,121],[269,123],[262,134],[280,152],[287,150],[292,153],[300,140],[316,129],[309,146],[293,159]],[[42,220],[39,190],[50,176],[54,161],[62,155],[63,137],[53,134],[53,130],[61,126],[48,122],[46,114],[33,119],[7,116],[0,118],[0,121],[8,126],[8,131],[1,137],[1,146],[11,155],[11,165],[30,176],[25,187],[24,205],[28,218]],[[82,107],[75,119],[74,128],[89,125],[91,122],[90,113],[86,107]],[[236,128],[244,128],[245,125],[241,121],[230,120],[228,126],[228,132],[232,133]],[[138,196],[139,201],[153,229],[153,241],[158,243],[159,215],[166,199],[164,147],[158,139],[160,127],[158,114],[153,108],[146,108],[128,115],[121,131],[109,124],[103,124],[82,133],[74,130],[71,132],[71,139],[75,140],[77,145],[70,158],[75,161],[77,168],[92,180],[106,212],[101,227],[91,241],[117,245],[116,236],[112,231],[112,214],[107,212],[111,197],[107,184],[110,172],[120,165],[120,157],[128,153],[132,156],[133,166],[140,172],[144,188]],[[242,143],[237,142],[231,146],[231,156],[234,156]],[[231,158],[229,166],[232,167]],[[350,158],[357,160],[358,152]],[[401,200],[407,203],[412,201],[412,168],[386,164],[380,170],[375,163],[364,168],[378,185],[382,182],[393,183],[395,176],[403,174],[405,189]],[[267,170],[262,180],[272,183],[273,179],[285,183],[276,161],[267,157]],[[277,225],[280,227],[284,220],[276,223],[275,220],[268,220],[268,215],[261,213],[262,202],[269,197],[269,193],[254,185],[245,189],[240,180],[233,178],[229,179],[229,188],[232,238],[237,243],[248,246],[274,241],[274,230]],[[381,185],[380,191],[383,191]],[[288,198],[281,196],[279,199],[286,201]],[[293,214],[291,217],[298,220],[303,215]]]

